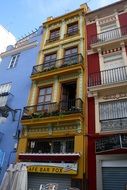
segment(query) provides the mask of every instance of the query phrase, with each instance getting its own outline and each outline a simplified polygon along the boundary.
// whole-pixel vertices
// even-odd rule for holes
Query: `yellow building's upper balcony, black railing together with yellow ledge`
[[[66,72],[73,72],[83,67],[83,56],[74,54],[62,59],[51,60],[33,67],[31,79],[38,80],[52,76],[60,75]]]

